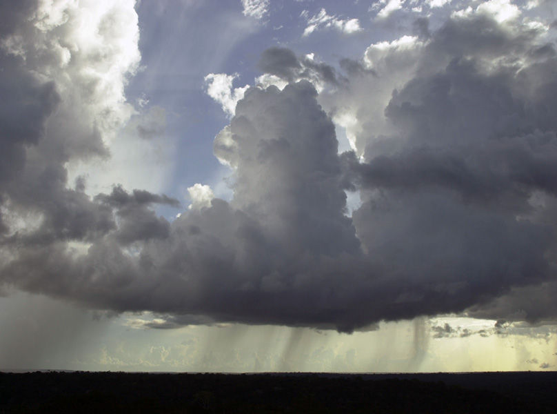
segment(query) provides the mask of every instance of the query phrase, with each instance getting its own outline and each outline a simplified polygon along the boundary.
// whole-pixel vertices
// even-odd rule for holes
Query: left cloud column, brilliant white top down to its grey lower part
[[[167,203],[168,197],[141,190],[130,196],[134,204],[117,206],[114,197],[86,194],[85,176],[77,175],[73,186],[66,170],[106,159],[134,114],[123,95],[140,59],[134,2],[18,2],[3,8],[18,19],[2,26],[0,50],[0,83],[10,101],[0,110],[2,153],[10,155],[0,159],[3,264],[17,262],[19,253],[37,260],[50,251],[53,257],[79,255],[112,230],[123,243],[145,239],[141,233],[153,225],[160,235],[168,223],[153,219],[147,204]]]

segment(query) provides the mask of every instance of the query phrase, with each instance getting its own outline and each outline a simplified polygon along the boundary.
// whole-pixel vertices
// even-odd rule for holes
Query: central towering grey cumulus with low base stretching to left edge
[[[125,221],[132,214],[145,217],[145,206],[115,189],[99,196],[103,204],[119,208],[124,222],[114,233],[92,241],[83,255],[64,246],[20,252],[3,269],[3,279],[117,311],[153,308],[224,321],[352,328],[352,317],[336,315],[334,296],[332,311],[323,314],[316,307],[303,316],[308,301],[325,299],[313,292],[320,273],[303,269],[335,275],[350,263],[350,255],[359,254],[354,228],[343,214],[334,126],[315,98],[310,83],[282,92],[246,92],[230,126],[238,144],[228,157],[237,159],[230,204],[213,199],[210,208],[189,210],[167,234],[152,226],[154,221],[136,219],[141,226],[130,234]],[[132,242],[141,242],[139,255],[123,250]],[[153,278],[155,269],[163,273]],[[74,274],[82,277],[70,282]],[[338,277],[327,282],[331,294],[340,282]]]

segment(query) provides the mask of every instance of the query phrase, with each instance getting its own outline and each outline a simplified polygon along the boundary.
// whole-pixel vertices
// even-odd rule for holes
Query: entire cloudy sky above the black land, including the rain
[[[0,2],[0,369],[557,367],[557,4]]]

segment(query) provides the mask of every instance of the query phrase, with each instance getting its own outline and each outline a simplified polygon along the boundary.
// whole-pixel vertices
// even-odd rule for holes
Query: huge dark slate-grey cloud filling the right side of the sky
[[[385,108],[394,135],[369,144],[365,164],[352,162],[364,189],[354,225],[369,254],[401,264],[414,281],[426,273],[445,281],[457,300],[476,302],[470,314],[478,317],[557,315],[533,300],[546,296],[538,284],[554,274],[557,182],[548,112],[557,108],[549,75],[557,60],[554,45],[535,37],[483,17],[449,21]],[[510,286],[527,304],[509,296],[485,303]]]

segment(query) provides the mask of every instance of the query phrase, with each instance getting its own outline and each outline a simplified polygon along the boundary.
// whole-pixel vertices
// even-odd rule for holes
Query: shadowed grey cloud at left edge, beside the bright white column
[[[72,157],[106,154],[99,122],[89,124],[90,114],[86,113],[98,103],[93,96],[96,91],[90,85],[80,90],[82,85],[76,83],[77,96],[72,96],[65,86],[50,79],[48,74],[64,70],[66,77],[74,75],[72,70],[77,75],[81,72],[68,66],[59,39],[48,37],[48,16],[34,25],[41,14],[36,2],[6,3],[2,8],[2,21],[17,19],[2,26],[10,30],[4,30],[0,50],[0,192],[12,228],[2,244],[24,249],[68,240],[90,241],[115,228],[112,213],[83,193],[83,179],[75,189],[67,188],[65,163]],[[58,28],[56,36],[68,35],[65,30]],[[41,48],[42,42],[48,43],[48,48]],[[76,61],[75,65],[83,63],[79,57]],[[81,106],[79,99],[90,108]],[[114,111],[110,107],[103,111],[110,122]],[[14,226],[17,217],[34,219],[34,230]]]

